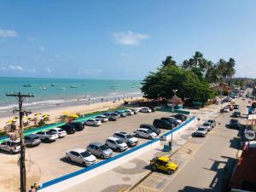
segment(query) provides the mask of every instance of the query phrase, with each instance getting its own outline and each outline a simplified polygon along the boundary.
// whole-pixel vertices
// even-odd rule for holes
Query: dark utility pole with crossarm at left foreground
[[[34,97],[33,94],[21,94],[20,92],[6,93],[6,96],[15,96],[19,102],[19,109],[15,110],[19,112],[20,116],[20,192],[26,192],[26,165],[25,165],[25,142],[23,135],[23,115],[26,111],[22,111],[22,103],[26,97]]]

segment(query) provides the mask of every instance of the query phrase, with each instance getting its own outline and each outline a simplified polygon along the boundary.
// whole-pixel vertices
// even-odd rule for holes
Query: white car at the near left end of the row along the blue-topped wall
[[[67,151],[66,160],[82,164],[82,166],[90,166],[96,163],[96,157],[83,148],[75,148]]]

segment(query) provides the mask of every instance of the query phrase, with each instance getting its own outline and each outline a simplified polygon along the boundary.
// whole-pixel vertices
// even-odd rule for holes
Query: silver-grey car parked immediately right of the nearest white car
[[[87,146],[87,150],[101,159],[108,159],[113,156],[111,148],[108,148],[108,146],[103,143],[90,143]]]

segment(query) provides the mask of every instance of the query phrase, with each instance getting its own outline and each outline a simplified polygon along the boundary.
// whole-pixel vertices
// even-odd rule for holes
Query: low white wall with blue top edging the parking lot
[[[194,122],[195,117],[188,119],[183,125],[179,125],[177,129],[173,130],[173,134],[178,134],[178,131],[183,131]],[[168,131],[164,136],[166,139],[169,138],[172,131]],[[40,192],[51,192],[51,191],[62,191],[68,189],[79,183],[83,183],[91,177],[96,177],[103,172],[108,172],[113,168],[124,164],[125,162],[136,158],[138,155],[144,154],[153,148],[160,146],[160,139],[154,139],[143,143],[135,148],[131,148],[121,154],[117,154],[108,160],[102,160],[93,166],[85,167],[77,172],[72,172],[62,177],[55,178],[49,182],[43,183]]]

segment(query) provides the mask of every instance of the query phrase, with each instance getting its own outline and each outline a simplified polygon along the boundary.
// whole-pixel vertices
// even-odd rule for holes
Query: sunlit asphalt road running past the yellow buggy
[[[247,101],[237,100],[241,113],[247,113]],[[193,138],[186,149],[180,152],[180,159],[186,160],[177,173],[168,179],[164,192],[201,192],[222,191],[223,179],[230,170],[230,163],[235,160],[239,146],[238,131],[227,128],[230,113],[221,114],[217,127],[206,138]],[[242,124],[246,119],[239,118]],[[200,143],[195,148],[194,143]],[[189,146],[190,145],[190,146]],[[195,148],[191,154],[186,154],[188,148]],[[182,154],[183,153],[183,154]],[[189,157],[185,157],[189,155]],[[184,157],[184,158],[182,158]]]

